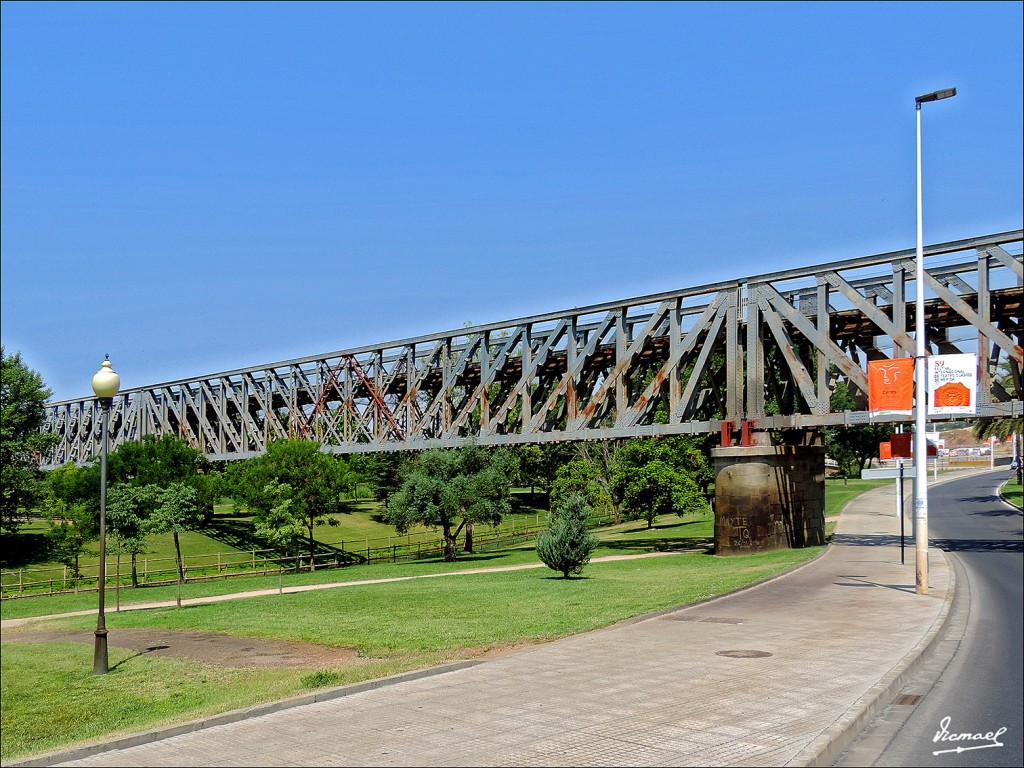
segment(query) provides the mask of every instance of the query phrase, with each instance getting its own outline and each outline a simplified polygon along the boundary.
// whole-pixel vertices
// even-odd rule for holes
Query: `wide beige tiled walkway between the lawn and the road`
[[[899,690],[951,601],[935,549],[930,594],[914,593],[894,501],[892,485],[855,500],[825,555],[760,587],[65,764],[827,765]]]

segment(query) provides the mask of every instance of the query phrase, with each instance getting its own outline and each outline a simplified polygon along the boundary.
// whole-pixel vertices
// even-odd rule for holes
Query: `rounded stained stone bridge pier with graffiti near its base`
[[[823,446],[719,447],[712,458],[716,554],[825,543]]]

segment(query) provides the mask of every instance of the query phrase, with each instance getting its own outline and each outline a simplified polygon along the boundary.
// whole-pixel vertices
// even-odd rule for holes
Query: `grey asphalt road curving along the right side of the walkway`
[[[888,708],[861,735],[876,730],[881,750],[895,732],[873,765],[1024,765],[1024,515],[998,499],[1009,478],[987,472],[929,495],[930,539],[953,561],[957,597],[944,647],[904,688],[921,699]]]

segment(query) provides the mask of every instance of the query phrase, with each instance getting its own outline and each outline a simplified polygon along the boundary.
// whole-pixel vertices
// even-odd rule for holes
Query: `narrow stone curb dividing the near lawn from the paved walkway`
[[[283,698],[278,701],[269,701],[267,703],[256,705],[255,707],[246,707],[241,710],[224,712],[220,715],[211,715],[207,718],[190,720],[187,723],[179,723],[178,725],[170,725],[163,728],[153,728],[151,730],[132,733],[130,735],[115,738],[109,741],[86,744],[72,750],[55,750],[53,752],[36,755],[32,758],[26,758],[25,760],[14,760],[10,762],[4,761],[4,768],[28,768],[29,766],[59,765],[60,763],[82,760],[84,758],[92,757],[93,755],[99,755],[105,752],[126,750],[130,746],[138,746],[140,744],[153,743],[154,741],[162,741],[166,738],[173,738],[174,736],[180,736],[184,733],[194,733],[196,731],[213,728],[218,725],[227,725],[228,723],[237,723],[242,720],[271,715],[275,712],[281,712],[282,710],[305,707],[306,705],[316,703],[317,701],[330,701],[334,698],[350,696],[353,693],[375,690],[388,685],[397,685],[398,683],[404,683],[411,680],[421,680],[427,677],[446,675],[449,673],[458,672],[470,667],[476,667],[479,664],[483,664],[482,659],[454,662],[439,667],[431,667],[426,670],[414,670],[413,672],[403,672],[398,675],[378,678],[377,680],[367,680],[361,683],[352,683],[351,685],[343,685],[338,688],[328,688],[327,690],[321,690],[314,693],[303,693],[298,696]]]

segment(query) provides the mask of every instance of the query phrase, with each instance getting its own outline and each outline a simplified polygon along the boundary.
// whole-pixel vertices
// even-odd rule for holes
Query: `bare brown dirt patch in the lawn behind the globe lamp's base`
[[[92,630],[20,631],[5,632],[3,639],[10,643],[92,644],[95,634]],[[112,647],[134,650],[137,655],[187,658],[237,669],[338,668],[368,660],[351,648],[187,630],[113,630],[108,635],[108,643]]]

